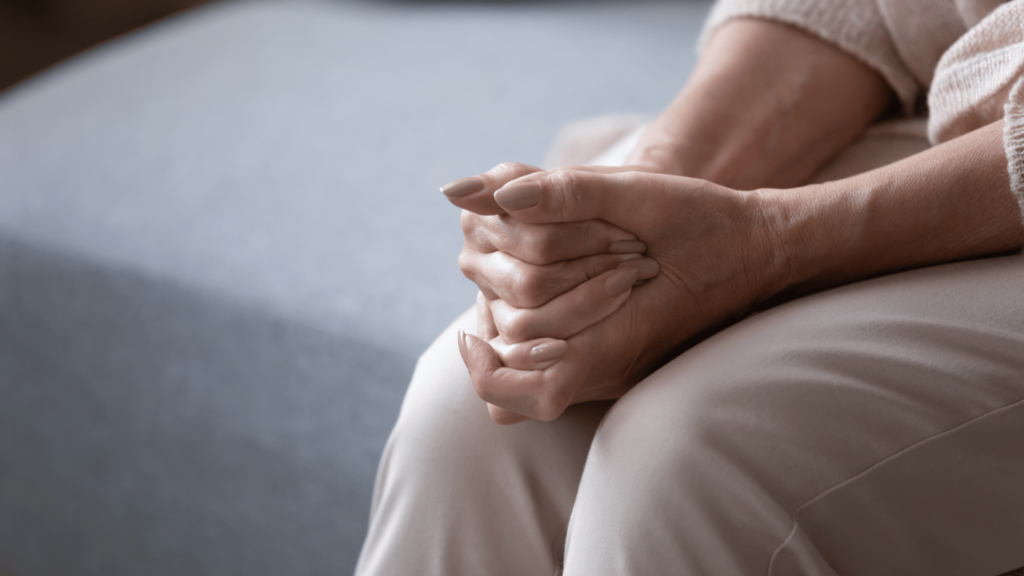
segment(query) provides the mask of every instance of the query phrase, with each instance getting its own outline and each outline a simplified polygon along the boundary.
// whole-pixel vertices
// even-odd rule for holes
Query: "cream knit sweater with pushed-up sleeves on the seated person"
[[[1024,0],[719,0],[703,37],[736,17],[782,22],[853,54],[907,114],[927,94],[932,143],[1004,118],[1024,221]]]

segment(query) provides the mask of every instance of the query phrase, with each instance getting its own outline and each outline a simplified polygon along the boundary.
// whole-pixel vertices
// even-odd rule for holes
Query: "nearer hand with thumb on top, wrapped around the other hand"
[[[527,224],[610,222],[636,233],[660,264],[660,274],[603,321],[568,337],[565,356],[543,369],[503,365],[487,342],[461,335],[477,394],[511,413],[550,420],[578,402],[618,398],[688,340],[785,285],[772,212],[756,193],[678,176],[563,169],[523,176],[490,201],[506,218]],[[522,314],[489,307],[499,332],[502,317]],[[519,326],[519,337],[549,335],[545,330],[572,323],[575,311],[548,310],[535,319],[539,327]]]

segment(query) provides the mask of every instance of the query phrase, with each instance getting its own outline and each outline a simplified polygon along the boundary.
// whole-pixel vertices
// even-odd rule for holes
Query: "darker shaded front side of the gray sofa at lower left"
[[[410,358],[14,242],[0,274],[0,553],[17,574],[351,562]]]

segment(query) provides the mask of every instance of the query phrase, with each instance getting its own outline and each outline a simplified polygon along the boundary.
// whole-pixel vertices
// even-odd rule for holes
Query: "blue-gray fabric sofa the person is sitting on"
[[[0,94],[0,573],[346,574],[437,188],[655,113],[705,3],[214,4]]]

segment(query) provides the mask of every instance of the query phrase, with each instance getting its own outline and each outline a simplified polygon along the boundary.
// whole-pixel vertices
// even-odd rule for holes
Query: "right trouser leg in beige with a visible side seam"
[[[749,318],[609,411],[566,574],[998,574],[1024,565],[1024,258]]]

